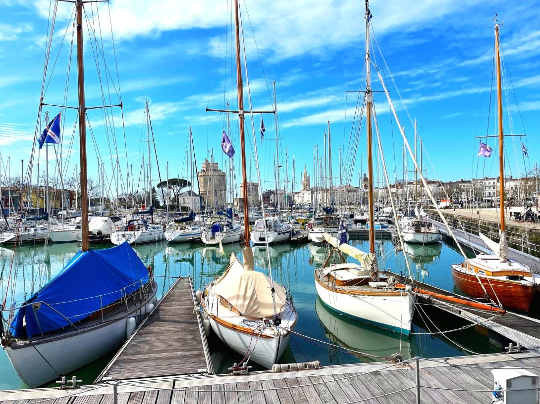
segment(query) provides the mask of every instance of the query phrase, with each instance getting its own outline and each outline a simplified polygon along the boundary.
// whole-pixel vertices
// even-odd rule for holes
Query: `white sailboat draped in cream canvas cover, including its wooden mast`
[[[253,250],[249,246],[244,94],[240,61],[242,24],[238,3],[238,0],[234,1],[242,196],[246,212],[244,219],[246,238],[242,253],[244,262],[241,263],[237,256],[231,254],[225,273],[206,287],[201,299],[201,308],[210,321],[212,330],[222,342],[243,357],[239,365],[233,366],[233,372],[247,372],[246,362],[250,358],[266,368],[271,368],[279,360],[291,338],[290,330],[296,325],[297,316],[285,288],[273,282],[271,268],[269,276],[254,270]],[[251,100],[250,109],[252,109]],[[257,155],[255,158],[257,159]],[[262,209],[264,210],[264,206]]]

